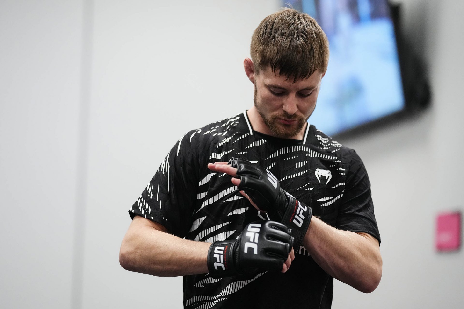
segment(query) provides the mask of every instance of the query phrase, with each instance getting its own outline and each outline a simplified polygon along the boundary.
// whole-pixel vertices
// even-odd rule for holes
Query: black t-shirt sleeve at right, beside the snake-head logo
[[[371,196],[371,184],[367,171],[356,151],[349,152],[351,159],[345,192],[338,213],[336,227],[355,233],[364,232],[379,240],[380,233],[374,215],[374,203]]]

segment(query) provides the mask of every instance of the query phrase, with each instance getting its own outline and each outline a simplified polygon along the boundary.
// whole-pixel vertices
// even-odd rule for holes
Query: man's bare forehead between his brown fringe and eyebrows
[[[258,78],[260,78],[265,85],[278,86],[286,89],[304,89],[304,88],[315,88],[322,79],[322,72],[316,70],[311,76],[304,79],[297,79],[296,82],[293,82],[293,78],[287,78],[285,75],[279,75],[279,70],[276,70],[276,73],[272,72],[271,67],[267,67],[264,70],[260,70],[258,73]]]

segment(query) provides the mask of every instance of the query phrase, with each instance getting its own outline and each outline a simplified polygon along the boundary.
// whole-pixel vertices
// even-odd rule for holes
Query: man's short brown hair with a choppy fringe
[[[294,9],[269,15],[251,37],[251,60],[259,72],[270,66],[274,74],[308,78],[329,63],[329,41],[316,19]]]

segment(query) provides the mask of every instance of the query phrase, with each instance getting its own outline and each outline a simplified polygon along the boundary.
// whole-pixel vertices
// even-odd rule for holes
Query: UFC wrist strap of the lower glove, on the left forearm
[[[219,279],[238,274],[233,259],[232,240],[215,241],[208,250],[208,271],[211,277]]]

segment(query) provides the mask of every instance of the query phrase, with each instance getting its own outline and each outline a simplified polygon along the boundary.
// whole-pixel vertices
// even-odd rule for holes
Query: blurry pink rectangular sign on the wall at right
[[[437,251],[455,251],[461,245],[461,213],[441,213],[437,216],[435,246]]]

